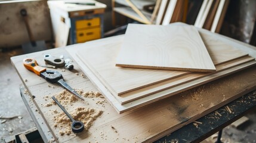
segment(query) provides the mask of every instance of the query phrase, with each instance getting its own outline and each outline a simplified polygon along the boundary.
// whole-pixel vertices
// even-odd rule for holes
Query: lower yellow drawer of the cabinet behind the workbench
[[[76,42],[82,43],[101,38],[100,27],[94,29],[76,30]]]

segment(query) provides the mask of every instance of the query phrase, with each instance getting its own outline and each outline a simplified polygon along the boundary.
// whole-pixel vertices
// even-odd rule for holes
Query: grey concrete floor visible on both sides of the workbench
[[[22,49],[0,51],[0,122],[4,120],[3,117],[22,117],[22,119],[17,117],[5,119],[6,122],[0,123],[0,142],[3,142],[3,138],[16,135],[35,126],[20,97],[20,77],[10,61],[10,57],[20,54],[23,54]],[[256,142],[256,111],[252,111],[246,116],[249,118],[249,122],[243,125],[242,129],[236,129],[231,125],[223,129],[223,142]],[[216,141],[216,137],[216,134],[212,135],[203,142],[213,143]]]

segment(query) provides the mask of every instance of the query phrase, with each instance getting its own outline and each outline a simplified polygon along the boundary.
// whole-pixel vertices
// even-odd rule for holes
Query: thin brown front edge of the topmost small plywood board
[[[188,69],[178,67],[154,67],[154,66],[135,66],[129,64],[116,64],[117,67],[137,68],[137,69],[153,69],[153,70],[177,70],[177,71],[198,71],[198,72],[214,72],[216,69]]]

